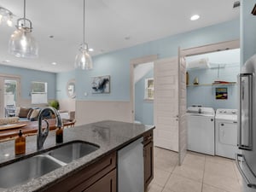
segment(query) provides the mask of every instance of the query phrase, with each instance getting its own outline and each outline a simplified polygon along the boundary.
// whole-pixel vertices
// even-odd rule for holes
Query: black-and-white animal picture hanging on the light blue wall
[[[92,77],[92,93],[110,93],[110,75]]]

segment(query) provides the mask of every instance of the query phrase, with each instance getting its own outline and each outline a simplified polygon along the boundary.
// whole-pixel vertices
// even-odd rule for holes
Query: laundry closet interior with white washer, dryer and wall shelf
[[[188,149],[235,159],[240,49],[186,58]]]

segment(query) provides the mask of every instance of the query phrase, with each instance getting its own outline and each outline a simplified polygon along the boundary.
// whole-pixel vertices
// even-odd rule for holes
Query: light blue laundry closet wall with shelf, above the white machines
[[[240,49],[186,57],[187,107],[237,108]]]

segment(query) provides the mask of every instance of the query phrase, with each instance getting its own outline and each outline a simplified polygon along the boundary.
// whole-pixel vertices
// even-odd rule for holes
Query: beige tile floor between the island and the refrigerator
[[[188,152],[182,166],[177,153],[154,148],[154,179],[147,192],[242,192],[234,160]]]

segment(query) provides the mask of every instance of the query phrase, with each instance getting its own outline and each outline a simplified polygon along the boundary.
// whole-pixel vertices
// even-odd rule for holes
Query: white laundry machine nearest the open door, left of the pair
[[[187,110],[188,149],[214,155],[214,109],[189,107]]]

